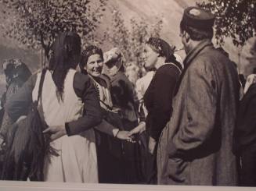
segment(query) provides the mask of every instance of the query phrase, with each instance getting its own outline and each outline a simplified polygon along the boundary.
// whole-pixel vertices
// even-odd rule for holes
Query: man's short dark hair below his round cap
[[[186,31],[193,41],[212,39],[214,34],[212,28],[209,28],[208,30],[198,30],[194,27],[187,26],[183,21],[180,23],[179,27],[182,32]]]

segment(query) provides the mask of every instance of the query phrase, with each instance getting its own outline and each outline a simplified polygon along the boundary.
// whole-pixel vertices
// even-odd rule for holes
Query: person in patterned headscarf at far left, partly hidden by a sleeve
[[[10,97],[12,97],[13,94],[16,94],[23,83],[29,79],[31,71],[27,68],[26,64],[16,58],[5,60],[2,68],[5,73],[6,91],[2,96],[1,104],[3,108],[5,108],[5,103],[9,101]],[[12,118],[9,118],[9,115],[5,112],[2,118],[2,125],[0,126],[0,139],[5,138],[7,129],[12,125]]]

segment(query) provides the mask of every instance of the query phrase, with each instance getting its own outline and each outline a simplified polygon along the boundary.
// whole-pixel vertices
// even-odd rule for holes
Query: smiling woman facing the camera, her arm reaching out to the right
[[[88,74],[99,92],[100,107],[103,111],[103,122],[96,129],[96,147],[100,183],[121,183],[120,140],[131,140],[129,132],[124,131],[118,109],[113,107],[110,95],[110,81],[102,75],[103,51],[89,45],[81,54],[81,73]]]

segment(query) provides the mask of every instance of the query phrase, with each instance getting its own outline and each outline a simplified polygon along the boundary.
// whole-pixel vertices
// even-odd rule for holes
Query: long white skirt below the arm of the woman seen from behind
[[[50,155],[45,160],[45,181],[99,182],[93,129],[76,136],[60,137],[52,141],[51,146],[59,156]]]

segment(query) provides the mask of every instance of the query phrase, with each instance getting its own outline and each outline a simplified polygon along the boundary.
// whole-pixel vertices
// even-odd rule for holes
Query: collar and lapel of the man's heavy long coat
[[[188,55],[186,55],[186,58],[184,59],[184,62],[183,62],[184,69],[182,70],[182,74],[180,75],[180,77],[178,79],[178,83],[175,87],[174,96],[178,93],[178,88],[179,88],[180,84],[182,83],[183,76],[185,75],[186,70],[189,68],[189,65],[191,64],[193,59],[196,58],[197,55],[199,55],[200,52],[203,51],[204,48],[207,48],[208,46],[213,46],[213,44],[211,43],[211,40],[206,39],[204,41],[201,41],[199,44],[197,44],[197,47],[193,48],[193,50],[189,51]]]

